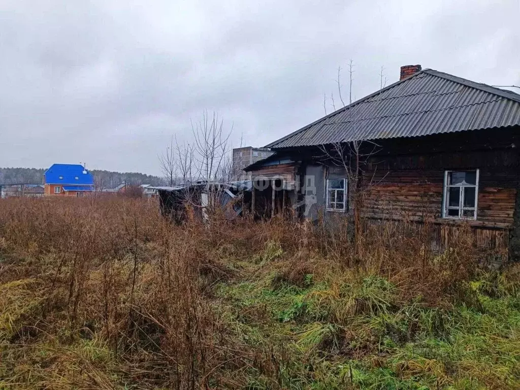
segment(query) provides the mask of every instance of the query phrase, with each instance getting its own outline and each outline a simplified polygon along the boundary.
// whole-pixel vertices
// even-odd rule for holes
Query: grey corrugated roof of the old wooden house
[[[280,149],[520,125],[520,95],[425,69],[267,145]]]

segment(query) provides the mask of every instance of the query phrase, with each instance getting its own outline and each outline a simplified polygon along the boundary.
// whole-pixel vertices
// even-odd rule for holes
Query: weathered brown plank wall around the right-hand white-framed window
[[[460,226],[467,223],[478,246],[506,252],[517,192],[516,151],[461,151],[376,159],[371,159],[363,179],[363,215],[378,220],[427,219],[435,225],[432,242],[439,248],[446,248]],[[477,219],[462,222],[441,218],[445,170],[477,168]]]

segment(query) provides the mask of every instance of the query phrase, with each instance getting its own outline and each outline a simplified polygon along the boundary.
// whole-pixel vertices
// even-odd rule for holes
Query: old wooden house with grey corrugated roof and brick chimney
[[[266,147],[252,208],[332,220],[430,220],[434,240],[470,225],[478,245],[520,256],[520,95],[421,66]]]

